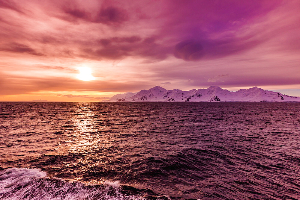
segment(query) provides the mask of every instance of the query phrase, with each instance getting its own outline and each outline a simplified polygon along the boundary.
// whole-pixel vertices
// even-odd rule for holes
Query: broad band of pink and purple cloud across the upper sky
[[[5,7],[16,7],[10,3],[13,1],[0,2]],[[147,62],[164,60],[172,54],[185,61],[211,60],[253,49],[268,37],[259,38],[257,32],[262,35],[264,31],[246,31],[245,28],[249,21],[277,5],[269,5],[265,1],[232,1],[218,2],[220,6],[217,9],[214,1],[166,1],[158,9],[158,5],[147,4],[147,1],[141,2],[146,4],[143,7],[126,1],[116,4],[109,1],[53,0],[45,5],[29,2],[45,16],[38,16],[38,12],[30,13],[33,14],[31,18],[20,18],[12,13],[5,17],[3,14],[1,18],[14,26],[2,27],[5,32],[13,33],[2,37],[0,34],[2,41],[11,37],[15,46],[19,44],[18,47],[6,48],[6,51],[94,60],[139,57]],[[21,2],[19,6],[29,12],[28,5]],[[41,19],[49,16],[53,20],[42,22]],[[22,21],[26,23],[20,23]],[[36,22],[43,24],[39,26],[41,31],[32,31],[38,30]],[[126,26],[122,25],[124,23]],[[22,40],[29,41],[30,46]],[[47,47],[41,48],[41,43],[46,43]]]

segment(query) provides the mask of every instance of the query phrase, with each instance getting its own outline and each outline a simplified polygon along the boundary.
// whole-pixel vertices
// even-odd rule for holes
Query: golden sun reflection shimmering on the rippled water
[[[102,179],[92,182],[90,182],[91,180],[83,180],[91,166],[101,163],[101,155],[97,157],[97,161],[95,161],[94,156],[97,150],[104,148],[104,144],[107,143],[106,134],[101,134],[105,126],[97,123],[97,120],[101,120],[101,115],[99,116],[99,113],[96,115],[95,104],[93,102],[76,102],[70,107],[68,116],[68,124],[66,125],[68,133],[64,145],[67,147],[57,149],[57,151],[60,154],[65,154],[66,157],[72,157],[74,160],[65,160],[63,166],[70,169],[81,166],[80,172],[75,172],[75,170],[70,172],[77,174],[77,178],[72,179],[72,181],[84,181],[90,184],[104,181]]]

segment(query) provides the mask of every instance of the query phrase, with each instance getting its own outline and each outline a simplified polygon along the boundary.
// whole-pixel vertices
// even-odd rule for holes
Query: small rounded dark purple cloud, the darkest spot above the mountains
[[[199,60],[203,57],[201,44],[194,40],[185,40],[178,43],[174,49],[174,56],[186,61]]]

